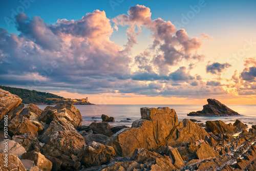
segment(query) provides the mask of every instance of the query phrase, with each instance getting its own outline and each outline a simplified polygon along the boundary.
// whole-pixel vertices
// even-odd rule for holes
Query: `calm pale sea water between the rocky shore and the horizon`
[[[47,105],[38,105],[42,110],[46,108]],[[233,123],[236,119],[241,120],[246,123],[249,127],[252,124],[256,124],[256,105],[227,105],[230,109],[238,112],[240,116],[229,116],[229,117],[197,117],[197,116],[187,116],[190,112],[196,112],[203,109],[203,105],[184,105],[184,104],[169,104],[169,105],[153,105],[153,104],[118,104],[118,105],[75,105],[83,118],[83,125],[90,125],[92,122],[101,122],[101,115],[113,116],[115,122],[109,122],[110,125],[127,125],[131,126],[133,121],[140,119],[140,108],[150,107],[158,108],[167,106],[170,109],[174,109],[177,113],[179,121],[183,119],[197,119],[205,123],[207,120],[222,120],[225,123]],[[131,120],[127,120],[127,118]]]

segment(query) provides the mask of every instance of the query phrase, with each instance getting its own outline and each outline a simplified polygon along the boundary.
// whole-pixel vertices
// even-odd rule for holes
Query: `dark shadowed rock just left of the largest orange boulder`
[[[103,134],[106,136],[112,136],[114,134],[108,122],[92,122],[89,128],[93,130],[95,134]]]

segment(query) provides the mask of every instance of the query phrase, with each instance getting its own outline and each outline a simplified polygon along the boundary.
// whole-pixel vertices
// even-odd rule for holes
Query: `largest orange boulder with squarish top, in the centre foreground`
[[[141,108],[140,111],[141,119],[135,121],[139,124],[122,129],[106,140],[106,145],[113,146],[119,156],[131,156],[136,148],[157,149],[166,143],[170,131],[179,123],[174,109]]]

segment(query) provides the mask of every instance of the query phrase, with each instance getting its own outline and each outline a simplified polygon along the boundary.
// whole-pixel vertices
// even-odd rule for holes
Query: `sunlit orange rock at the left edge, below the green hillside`
[[[13,111],[21,102],[22,99],[17,95],[0,89],[0,120]]]

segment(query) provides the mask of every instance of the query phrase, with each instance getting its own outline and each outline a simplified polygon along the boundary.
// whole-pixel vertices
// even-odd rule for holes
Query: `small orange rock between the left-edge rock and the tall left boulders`
[[[26,116],[29,120],[38,121],[37,118],[41,115],[42,110],[37,107],[35,104],[29,104],[26,108],[23,109],[19,115]]]

